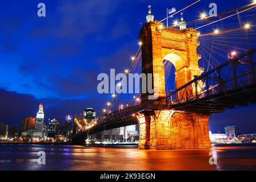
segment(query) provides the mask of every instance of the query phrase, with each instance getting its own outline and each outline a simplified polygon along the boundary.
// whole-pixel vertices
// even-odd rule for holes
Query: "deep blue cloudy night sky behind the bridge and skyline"
[[[46,17],[37,16],[37,5],[46,4]],[[97,93],[97,75],[130,65],[138,49],[138,34],[152,5],[155,19],[166,17],[166,8],[177,10],[194,0],[9,0],[0,6],[0,112],[1,122],[19,127],[23,117],[35,117],[42,102],[45,121],[82,113],[94,107],[98,115],[109,94]],[[250,0],[202,0],[184,11],[185,20],[209,11],[218,13],[247,5]],[[179,15],[177,16],[179,18]],[[207,31],[207,30],[205,30]],[[256,133],[255,107],[213,115],[210,130],[237,125],[240,133]]]

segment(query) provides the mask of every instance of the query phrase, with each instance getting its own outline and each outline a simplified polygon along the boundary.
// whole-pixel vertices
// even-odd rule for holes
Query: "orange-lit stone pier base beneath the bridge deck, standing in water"
[[[171,110],[138,114],[139,149],[211,148],[209,117],[209,114],[183,114]]]

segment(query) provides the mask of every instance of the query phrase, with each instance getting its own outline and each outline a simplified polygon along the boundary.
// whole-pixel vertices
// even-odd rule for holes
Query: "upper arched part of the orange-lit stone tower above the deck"
[[[175,28],[159,29],[163,26],[158,21],[146,23],[139,35],[142,44],[142,73],[153,73],[159,78],[153,78],[155,92],[159,92],[159,100],[165,98],[165,68],[164,59],[173,62],[177,88],[187,84],[202,73],[198,65],[201,56],[197,54],[198,32],[193,28],[177,30]],[[191,85],[190,89],[195,92]],[[185,96],[184,90],[180,94]],[[148,100],[149,94],[142,95],[142,101]]]

